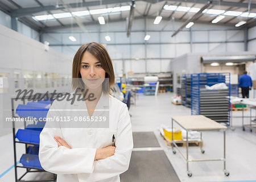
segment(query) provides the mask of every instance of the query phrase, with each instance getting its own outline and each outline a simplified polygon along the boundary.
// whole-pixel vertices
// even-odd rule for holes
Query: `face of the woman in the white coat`
[[[104,81],[106,72],[102,68],[100,61],[90,52],[85,51],[84,55],[82,55],[80,73],[85,86],[96,89]]]

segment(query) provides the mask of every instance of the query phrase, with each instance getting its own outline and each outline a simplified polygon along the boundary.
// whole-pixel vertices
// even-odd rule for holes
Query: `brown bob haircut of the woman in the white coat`
[[[106,48],[99,43],[91,42],[83,44],[78,49],[73,59],[72,78],[81,78],[80,65],[85,51],[90,52],[94,57],[97,58],[97,60],[101,62],[102,68],[106,72],[105,78],[109,78],[109,85],[106,85],[108,84],[106,79],[102,83],[102,91],[104,94],[110,93],[110,88],[115,83],[113,64],[109,53],[106,51]],[[72,79],[72,89],[75,90],[76,88],[84,88],[84,82],[82,79]]]

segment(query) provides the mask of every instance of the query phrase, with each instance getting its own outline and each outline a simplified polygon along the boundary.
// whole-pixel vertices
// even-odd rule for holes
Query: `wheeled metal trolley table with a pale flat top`
[[[204,162],[204,161],[223,161],[224,162],[224,174],[225,176],[229,176],[229,171],[226,170],[226,129],[227,127],[221,125],[205,117],[204,115],[188,115],[188,116],[175,116],[172,117],[172,130],[174,129],[174,122],[176,122],[179,126],[181,126],[187,133],[187,140],[186,140],[186,156],[181,152],[177,144],[174,140],[174,133],[172,132],[172,152],[176,154],[174,147],[177,148],[177,151],[180,152],[181,156],[187,162],[187,175],[189,177],[192,176],[192,172],[189,170],[188,163],[189,162]],[[188,158],[188,131],[223,131],[224,133],[224,157],[221,159],[189,159]],[[202,148],[202,133],[201,133],[201,140],[200,140],[200,149],[201,153],[204,154],[204,150]]]

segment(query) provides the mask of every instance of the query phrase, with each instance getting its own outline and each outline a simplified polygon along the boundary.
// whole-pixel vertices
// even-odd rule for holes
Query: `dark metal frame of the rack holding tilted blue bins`
[[[27,99],[28,97],[24,97],[24,99]],[[25,100],[23,98],[18,98],[18,99],[22,99],[23,100],[23,105],[25,105]],[[48,98],[49,99],[49,98]],[[12,117],[13,118],[18,118],[15,116],[15,109],[14,109],[14,100],[15,98],[11,98],[11,114],[12,114]],[[35,124],[35,123],[34,123]],[[27,126],[27,123],[26,121],[24,121],[24,128],[26,128]],[[44,169],[41,169],[41,168],[33,168],[33,167],[26,167],[26,166],[19,166],[17,164],[17,156],[16,156],[16,143],[23,143],[25,144],[25,150],[26,150],[26,154],[28,154],[28,145],[34,145],[34,146],[39,146],[39,144],[35,144],[35,143],[28,143],[28,142],[19,142],[16,140],[16,131],[15,131],[15,123],[13,122],[13,147],[14,147],[14,171],[15,171],[15,182],[21,182],[21,181],[27,181],[27,182],[39,182],[39,181],[56,181],[57,179],[57,175],[56,174],[52,174],[53,177],[52,179],[46,179],[46,180],[22,180],[22,178],[24,176],[27,175],[27,173],[30,173],[30,172],[46,172]],[[23,173],[22,176],[20,176],[18,178],[18,171],[17,169],[18,168],[25,168],[26,169],[26,172]]]

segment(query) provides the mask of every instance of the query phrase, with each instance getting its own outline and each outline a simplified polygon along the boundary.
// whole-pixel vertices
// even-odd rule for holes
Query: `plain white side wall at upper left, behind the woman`
[[[0,69],[40,71],[71,75],[72,58],[53,48],[0,25]]]

